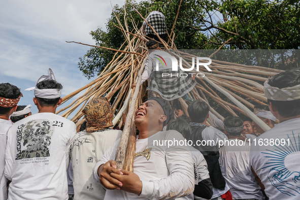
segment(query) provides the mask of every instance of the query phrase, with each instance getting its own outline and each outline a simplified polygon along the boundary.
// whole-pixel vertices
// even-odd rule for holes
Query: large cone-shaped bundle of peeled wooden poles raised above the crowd
[[[141,14],[140,16],[143,20],[145,20]],[[138,105],[142,104],[142,96],[146,90],[146,84],[142,84],[140,86],[140,83],[142,79],[141,74],[144,70],[145,61],[148,56],[145,43],[149,40],[149,38],[142,34],[140,27],[135,26],[132,31],[128,30],[126,11],[124,16],[124,24],[121,24],[117,16],[116,19],[119,22],[118,27],[122,31],[126,41],[123,43],[120,49],[110,49],[88,45],[112,50],[115,52],[114,57],[97,78],[95,78],[86,86],[64,96],[63,102],[59,108],[65,106],[66,104],[69,105],[59,109],[57,114],[64,111],[60,115],[65,118],[72,114],[73,118],[71,120],[79,125],[83,121],[84,116],[81,111],[85,105],[93,98],[105,95],[108,100],[111,101],[114,125],[118,123],[119,126],[121,126],[122,113],[126,113],[126,122],[116,155],[116,161],[118,168],[132,171],[136,138],[134,111],[138,108]],[[132,24],[136,24],[134,19],[129,17],[128,19],[132,20]],[[152,26],[150,27],[153,29]],[[153,31],[155,32],[154,29]],[[168,41],[161,40],[159,36],[158,38],[160,40],[158,42],[162,44],[165,50],[174,50],[172,50],[172,52],[170,51],[170,54],[177,58],[179,56],[182,57],[182,65],[184,68],[191,68],[192,57],[196,56],[176,50],[177,48],[174,45],[175,33],[173,32],[173,29],[169,35]],[[221,49],[221,47],[219,49]],[[216,52],[217,51],[219,50],[216,50]],[[212,57],[215,53],[213,53],[210,57]],[[207,60],[203,60],[203,62],[207,62]],[[206,69],[200,69],[200,73],[205,74],[205,77],[196,77],[197,84],[188,93],[188,95],[191,98],[206,101],[209,105],[212,103],[208,101],[208,97],[210,97],[231,115],[237,116],[235,111],[238,111],[243,115],[252,118],[263,129],[268,130],[269,127],[258,117],[256,117],[252,111],[249,110],[254,109],[254,105],[247,100],[251,99],[256,104],[266,105],[267,99],[263,94],[262,84],[268,79],[268,76],[274,76],[282,71],[264,68],[262,66],[243,65],[214,59],[212,59],[212,63],[208,66],[212,72],[208,72]],[[194,71],[193,73],[196,72]],[[137,86],[131,88],[133,83],[137,83]],[[79,92],[81,91],[84,91],[84,93],[78,96]],[[217,94],[217,91],[227,96],[231,102],[226,101],[224,98],[222,99]],[[116,95],[112,101],[114,94]],[[76,95],[78,97],[70,103],[70,99]],[[179,102],[185,114],[188,115],[188,105],[186,102],[182,98],[179,98]],[[171,102],[171,105],[172,104],[173,103]],[[222,120],[224,119],[224,117],[215,111],[213,107],[211,107],[210,110],[218,118]],[[208,122],[211,125],[214,125],[212,120],[208,120]],[[127,145],[129,145],[129,147],[127,147]],[[126,151],[127,149],[130,149],[130,151]]]

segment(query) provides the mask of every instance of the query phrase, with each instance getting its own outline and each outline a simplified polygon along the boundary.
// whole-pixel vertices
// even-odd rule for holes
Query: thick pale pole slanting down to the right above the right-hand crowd
[[[210,83],[214,88],[216,88],[218,91],[222,92],[225,96],[227,96],[233,103],[235,103],[240,109],[242,109],[247,115],[257,123],[264,131],[267,131],[270,129],[266,123],[264,123],[261,119],[259,119],[254,113],[252,113],[246,106],[244,106],[241,102],[239,102],[235,97],[233,97],[231,94],[217,86],[215,83],[213,83],[211,80],[209,80],[207,77],[204,77],[204,79]]]

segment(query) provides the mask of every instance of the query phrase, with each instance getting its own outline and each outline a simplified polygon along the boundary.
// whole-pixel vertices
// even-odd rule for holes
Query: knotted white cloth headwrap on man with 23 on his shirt
[[[38,81],[36,82],[36,87],[30,87],[25,90],[27,90],[27,91],[35,90],[35,96],[40,97],[40,98],[49,98],[49,99],[59,98],[61,96],[61,89],[39,89],[39,88],[37,88],[38,83],[40,83],[41,81],[45,81],[45,80],[56,81],[54,74],[50,68],[48,69],[48,75],[43,75],[38,79]]]

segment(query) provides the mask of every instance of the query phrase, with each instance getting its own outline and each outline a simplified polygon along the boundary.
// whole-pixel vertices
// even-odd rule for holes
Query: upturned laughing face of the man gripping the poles
[[[135,124],[151,128],[159,126],[166,120],[161,106],[153,99],[148,100],[139,106],[135,112]]]

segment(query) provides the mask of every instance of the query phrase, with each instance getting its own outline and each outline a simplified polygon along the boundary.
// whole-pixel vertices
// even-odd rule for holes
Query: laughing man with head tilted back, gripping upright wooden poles
[[[189,147],[158,143],[184,141],[175,130],[161,131],[171,116],[169,103],[160,98],[149,98],[135,112],[135,124],[140,133],[136,141],[134,173],[116,169],[113,159],[119,140],[94,166],[94,180],[109,189],[105,199],[169,199],[193,192],[194,168]]]

